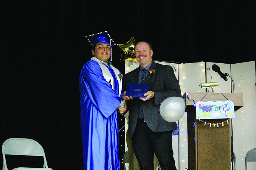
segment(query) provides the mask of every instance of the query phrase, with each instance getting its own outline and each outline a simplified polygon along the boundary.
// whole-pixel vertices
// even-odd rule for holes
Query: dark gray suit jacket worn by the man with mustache
[[[173,73],[173,68],[171,66],[157,64],[153,61],[150,69],[154,69],[155,72],[147,75],[145,84],[149,85],[149,91],[153,91],[155,96],[147,101],[142,101],[146,123],[153,132],[176,130],[176,122],[167,122],[160,115],[160,104],[166,98],[172,96],[181,97],[180,85]],[[128,83],[139,84],[139,68],[125,74],[123,78],[123,91],[126,91]],[[133,135],[136,127],[139,100],[138,98],[133,98],[132,100],[126,101],[129,111],[129,138]]]

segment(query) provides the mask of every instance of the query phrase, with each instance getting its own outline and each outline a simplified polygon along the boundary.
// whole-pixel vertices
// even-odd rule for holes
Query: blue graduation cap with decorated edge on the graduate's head
[[[109,45],[115,45],[115,42],[110,37],[110,35],[107,31],[99,32],[97,34],[87,35],[85,37],[91,43],[92,46],[96,45],[99,42],[108,43]]]

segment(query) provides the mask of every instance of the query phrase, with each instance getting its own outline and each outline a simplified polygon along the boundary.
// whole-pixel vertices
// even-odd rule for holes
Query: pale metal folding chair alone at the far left
[[[52,170],[52,168],[48,168],[41,144],[32,139],[10,138],[3,143],[2,153],[3,170],[8,170],[5,155],[42,156],[44,158],[43,168],[14,168],[13,170]]]

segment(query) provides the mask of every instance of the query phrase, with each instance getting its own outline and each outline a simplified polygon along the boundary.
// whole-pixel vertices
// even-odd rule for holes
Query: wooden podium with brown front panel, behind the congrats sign
[[[235,111],[243,106],[242,93],[188,92],[188,94],[195,103],[228,99],[234,103]],[[231,170],[231,120],[228,122],[228,119],[197,120],[193,101],[188,99],[186,93],[183,98],[188,113],[188,170]],[[211,127],[208,123],[211,123]]]

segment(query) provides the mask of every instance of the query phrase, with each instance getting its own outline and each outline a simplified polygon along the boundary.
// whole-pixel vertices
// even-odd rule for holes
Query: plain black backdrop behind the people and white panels
[[[253,1],[3,0],[0,11],[0,144],[32,138],[53,170],[83,169],[78,77],[91,58],[85,35],[107,30],[117,44],[149,41],[160,61],[255,60]],[[113,65],[124,73],[120,56],[113,47]]]

